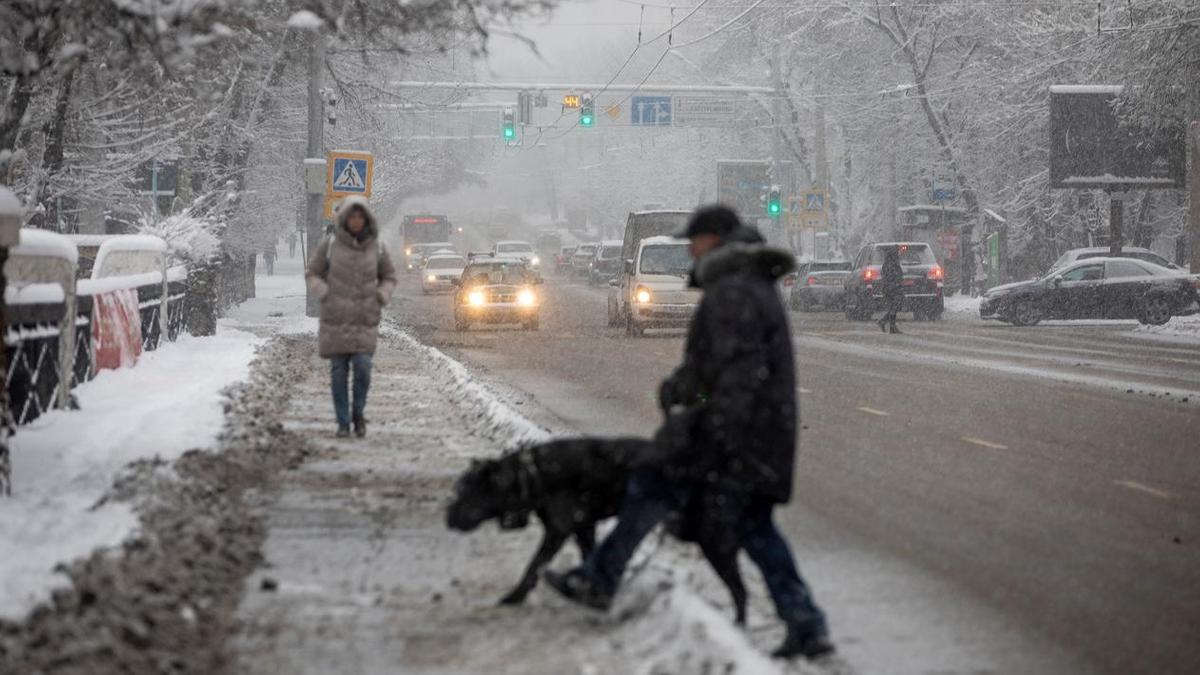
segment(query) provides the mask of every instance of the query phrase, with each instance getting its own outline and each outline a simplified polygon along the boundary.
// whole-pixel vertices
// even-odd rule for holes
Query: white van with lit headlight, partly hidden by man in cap
[[[624,324],[630,336],[642,335],[647,328],[688,325],[700,304],[700,289],[688,287],[688,240],[642,239],[628,265],[623,279],[608,282],[608,325]]]

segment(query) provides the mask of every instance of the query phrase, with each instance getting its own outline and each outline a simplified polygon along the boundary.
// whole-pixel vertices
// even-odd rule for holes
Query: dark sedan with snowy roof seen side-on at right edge
[[[1086,258],[1042,279],[996,286],[979,316],[1014,325],[1054,318],[1136,318],[1160,325],[1200,312],[1200,280],[1134,258]]]

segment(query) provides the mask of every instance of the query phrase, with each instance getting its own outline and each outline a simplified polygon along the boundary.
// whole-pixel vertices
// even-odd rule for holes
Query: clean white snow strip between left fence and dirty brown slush
[[[64,585],[58,562],[133,532],[128,506],[94,506],[126,464],[211,447],[223,426],[221,392],[246,376],[258,344],[228,328],[184,335],[143,354],[137,368],[78,387],[80,410],[52,411],[17,430],[13,494],[0,500],[0,616],[20,617]]]

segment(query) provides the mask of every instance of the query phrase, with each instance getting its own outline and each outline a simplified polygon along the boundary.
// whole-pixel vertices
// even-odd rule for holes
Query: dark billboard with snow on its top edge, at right
[[[1050,186],[1106,190],[1183,187],[1182,126],[1151,133],[1112,109],[1121,86],[1050,88]]]

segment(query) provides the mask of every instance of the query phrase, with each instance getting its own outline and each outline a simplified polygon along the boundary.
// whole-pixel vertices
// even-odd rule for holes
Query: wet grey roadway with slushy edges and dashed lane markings
[[[584,432],[649,432],[678,335],[606,328],[604,293],[551,279],[542,330],[430,344]],[[952,316],[881,335],[793,315],[797,503],[781,520],[864,671],[1182,673],[1200,668],[1200,348],[1128,324]]]

